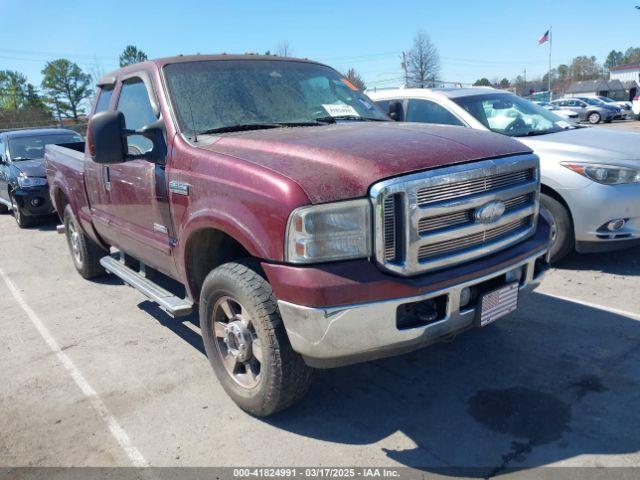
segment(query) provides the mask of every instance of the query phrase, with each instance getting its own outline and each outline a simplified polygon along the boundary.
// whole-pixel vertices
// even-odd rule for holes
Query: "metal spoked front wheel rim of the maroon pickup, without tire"
[[[260,383],[263,351],[248,311],[233,297],[218,299],[212,325],[216,351],[226,372],[240,386]]]

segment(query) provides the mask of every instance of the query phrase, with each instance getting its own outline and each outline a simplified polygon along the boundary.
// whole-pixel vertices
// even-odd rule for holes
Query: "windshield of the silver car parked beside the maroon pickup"
[[[473,95],[453,101],[489,130],[511,137],[544,135],[571,128],[564,118],[508,93]]]

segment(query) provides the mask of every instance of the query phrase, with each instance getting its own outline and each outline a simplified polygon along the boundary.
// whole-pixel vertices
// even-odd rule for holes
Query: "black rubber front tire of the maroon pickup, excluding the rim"
[[[302,399],[312,370],[291,347],[273,290],[259,272],[259,264],[251,259],[211,271],[200,294],[200,328],[211,366],[227,394],[246,412],[264,417]],[[213,326],[214,307],[222,297],[237,299],[248,311],[262,345],[260,379],[253,388],[234,381],[222,363]]]

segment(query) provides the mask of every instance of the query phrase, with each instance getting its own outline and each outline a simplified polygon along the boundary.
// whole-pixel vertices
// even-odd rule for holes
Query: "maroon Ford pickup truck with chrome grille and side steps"
[[[59,231],[83,277],[115,274],[173,316],[198,305],[225,390],[274,413],[312,367],[512,312],[548,266],[527,147],[389,120],[311,61],[125,67],[99,83],[86,146],[46,148]]]

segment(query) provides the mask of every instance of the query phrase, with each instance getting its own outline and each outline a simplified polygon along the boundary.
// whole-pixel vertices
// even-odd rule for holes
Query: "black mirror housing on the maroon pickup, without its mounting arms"
[[[122,112],[105,111],[91,117],[87,132],[89,153],[96,163],[122,163],[127,156]]]

